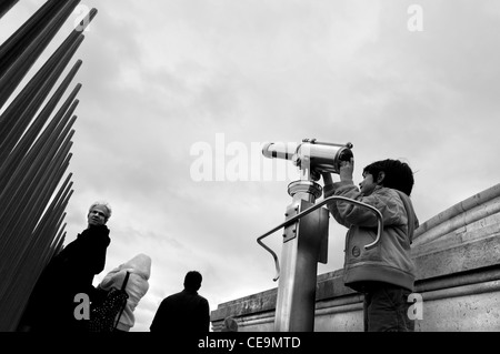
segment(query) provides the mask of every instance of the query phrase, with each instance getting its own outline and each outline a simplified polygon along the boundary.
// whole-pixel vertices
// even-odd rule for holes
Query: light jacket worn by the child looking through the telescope
[[[353,203],[329,204],[338,223],[349,229],[344,249],[344,284],[356,291],[367,291],[370,282],[386,282],[413,291],[414,264],[411,259],[413,231],[419,221],[410,198],[393,189],[376,186],[363,195],[352,182],[324,186],[324,198],[341,195],[377,208],[383,216],[383,232],[373,249],[364,245],[377,237],[377,215]]]

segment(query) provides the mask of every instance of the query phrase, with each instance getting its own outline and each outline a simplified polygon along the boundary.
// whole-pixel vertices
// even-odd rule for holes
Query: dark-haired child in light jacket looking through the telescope
[[[364,168],[360,189],[352,181],[354,161],[341,161],[340,182],[323,173],[324,198],[341,195],[377,208],[383,216],[383,233],[374,247],[364,245],[377,236],[377,215],[353,203],[333,201],[329,210],[346,236],[343,281],[364,294],[364,331],[414,331],[408,316],[408,296],[413,292],[414,265],[410,254],[419,222],[410,201],[413,173],[407,163],[382,160]]]

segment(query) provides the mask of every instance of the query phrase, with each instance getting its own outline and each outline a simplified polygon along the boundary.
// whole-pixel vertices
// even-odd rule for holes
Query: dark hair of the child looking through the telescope
[[[370,173],[377,181],[379,173],[382,171],[386,176],[381,185],[401,191],[410,196],[414,180],[413,172],[408,163],[391,159],[377,161],[366,166],[363,173]]]

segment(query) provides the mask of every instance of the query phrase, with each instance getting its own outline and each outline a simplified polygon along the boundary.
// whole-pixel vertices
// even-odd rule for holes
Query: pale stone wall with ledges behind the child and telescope
[[[416,331],[500,331],[500,184],[421,224],[412,255]],[[346,287],[342,270],[318,275],[314,331],[362,331],[362,294]],[[272,332],[277,289],[222,303],[213,331],[232,316],[240,331]],[[420,320],[421,318],[421,320]]]

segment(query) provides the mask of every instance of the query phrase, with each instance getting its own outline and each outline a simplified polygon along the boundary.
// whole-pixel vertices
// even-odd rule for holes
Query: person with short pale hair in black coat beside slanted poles
[[[79,294],[92,301],[93,277],[103,271],[111,242],[106,225],[111,216],[107,202],[92,203],[87,229],[57,253],[40,274],[19,324],[21,332],[87,332],[78,316]]]

